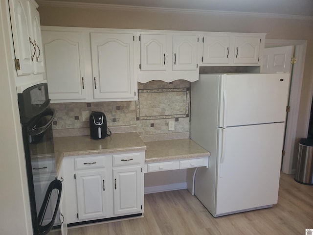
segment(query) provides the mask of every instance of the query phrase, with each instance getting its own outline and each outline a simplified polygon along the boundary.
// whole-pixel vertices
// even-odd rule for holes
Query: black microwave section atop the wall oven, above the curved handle
[[[21,123],[42,113],[50,103],[48,84],[39,83],[18,94]]]

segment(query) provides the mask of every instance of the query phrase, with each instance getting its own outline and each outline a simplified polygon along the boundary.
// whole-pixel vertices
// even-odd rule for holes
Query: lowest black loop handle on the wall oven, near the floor
[[[56,202],[56,205],[55,205],[55,209],[54,209],[51,221],[48,224],[42,226],[43,220],[45,218],[45,212],[46,212],[46,209],[48,207],[49,200],[50,200],[51,193],[52,193],[53,189],[58,189],[59,190],[57,202]],[[62,183],[61,183],[61,181],[60,180],[52,181],[50,183],[46,193],[45,193],[44,202],[43,202],[43,204],[42,204],[42,206],[40,208],[40,211],[38,213],[38,234],[39,235],[45,235],[45,234],[49,233],[50,230],[52,229],[52,227],[54,225],[55,217],[57,216],[57,212],[58,212],[58,209],[59,209],[60,200],[61,200],[61,193],[62,193]]]

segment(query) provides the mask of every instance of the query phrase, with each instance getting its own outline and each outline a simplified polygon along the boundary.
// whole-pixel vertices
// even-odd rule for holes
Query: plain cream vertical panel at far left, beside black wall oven
[[[0,234],[32,235],[7,4],[0,1]]]

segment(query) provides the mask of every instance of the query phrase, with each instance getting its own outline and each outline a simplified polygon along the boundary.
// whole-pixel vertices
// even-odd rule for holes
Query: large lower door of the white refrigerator
[[[214,216],[277,203],[284,126],[271,123],[220,129]]]

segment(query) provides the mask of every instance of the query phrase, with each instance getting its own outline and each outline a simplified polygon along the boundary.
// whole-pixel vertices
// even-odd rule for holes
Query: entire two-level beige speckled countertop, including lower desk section
[[[55,137],[53,141],[57,172],[63,158],[69,156],[146,150],[146,163],[210,156],[190,139],[143,142],[137,132],[113,133],[101,140],[90,139],[90,136],[68,136]]]

